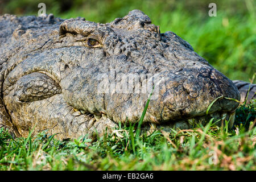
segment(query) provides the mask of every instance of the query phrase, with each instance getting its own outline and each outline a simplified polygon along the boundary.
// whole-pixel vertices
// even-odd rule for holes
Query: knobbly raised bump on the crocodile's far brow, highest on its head
[[[128,15],[124,16],[123,18],[116,18],[110,24],[113,27],[121,29],[125,28],[127,30],[137,30],[139,28],[144,28],[160,34],[159,26],[151,24],[151,19],[141,10],[130,11]]]

